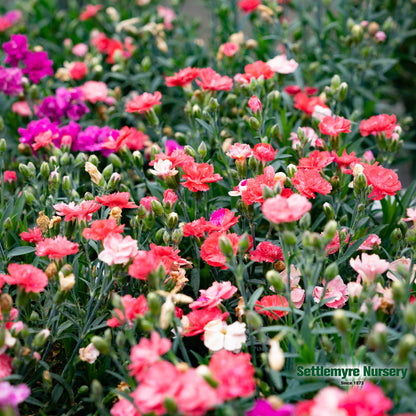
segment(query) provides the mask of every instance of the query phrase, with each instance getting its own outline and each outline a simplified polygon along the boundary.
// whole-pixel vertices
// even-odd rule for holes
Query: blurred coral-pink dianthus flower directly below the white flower
[[[246,353],[234,354],[227,350],[215,353],[209,369],[219,385],[217,392],[222,400],[250,397],[256,390],[254,367],[251,356]]]

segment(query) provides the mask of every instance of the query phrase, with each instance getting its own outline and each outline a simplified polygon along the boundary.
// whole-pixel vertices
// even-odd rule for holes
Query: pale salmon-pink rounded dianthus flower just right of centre
[[[312,209],[312,204],[302,195],[293,194],[288,198],[276,195],[267,199],[262,207],[264,216],[274,224],[299,220]]]

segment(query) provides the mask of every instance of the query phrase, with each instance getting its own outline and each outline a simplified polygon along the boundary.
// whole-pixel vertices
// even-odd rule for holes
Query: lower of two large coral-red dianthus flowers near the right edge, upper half
[[[394,196],[402,189],[399,177],[391,169],[383,168],[375,163],[374,165],[365,165],[363,173],[367,178],[368,185],[373,186],[373,191],[368,197],[376,201],[383,199],[386,195]]]

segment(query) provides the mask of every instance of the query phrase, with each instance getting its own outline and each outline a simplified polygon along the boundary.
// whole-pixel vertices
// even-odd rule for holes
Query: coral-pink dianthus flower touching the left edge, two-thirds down
[[[48,276],[31,264],[12,263],[9,264],[7,271],[9,274],[0,274],[0,279],[9,285],[19,286],[25,292],[43,292],[48,284]]]

